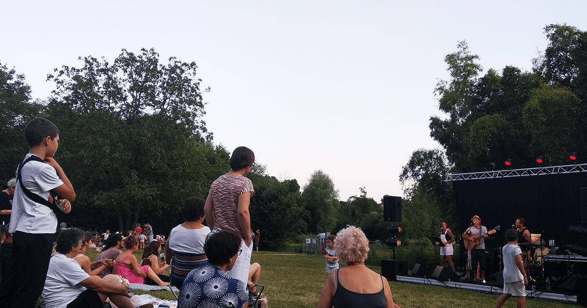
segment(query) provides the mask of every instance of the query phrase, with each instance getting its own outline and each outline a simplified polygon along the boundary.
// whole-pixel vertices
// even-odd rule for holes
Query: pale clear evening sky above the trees
[[[214,144],[241,145],[279,180],[303,187],[322,170],[339,199],[403,196],[413,151],[436,148],[428,128],[444,56],[466,40],[484,72],[531,70],[544,26],[587,31],[586,1],[7,1],[0,63],[46,76],[78,57],[113,62],[154,48],[198,65]],[[483,75],[483,73],[482,73]],[[228,170],[227,170],[228,171]],[[205,197],[205,196],[204,196]]]

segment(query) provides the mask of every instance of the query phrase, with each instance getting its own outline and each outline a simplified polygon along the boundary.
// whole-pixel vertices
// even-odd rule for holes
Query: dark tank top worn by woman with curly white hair
[[[381,291],[377,293],[357,293],[352,292],[342,285],[338,280],[336,270],[336,292],[332,297],[332,303],[335,308],[385,308],[385,294],[383,293],[383,277],[381,277]]]

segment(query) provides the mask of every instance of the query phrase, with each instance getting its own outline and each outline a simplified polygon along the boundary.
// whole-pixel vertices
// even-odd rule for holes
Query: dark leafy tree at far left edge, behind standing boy
[[[36,117],[40,109],[41,105],[31,100],[31,87],[25,83],[25,76],[0,63],[1,185],[14,178],[19,161],[29,151],[23,132],[26,123]]]

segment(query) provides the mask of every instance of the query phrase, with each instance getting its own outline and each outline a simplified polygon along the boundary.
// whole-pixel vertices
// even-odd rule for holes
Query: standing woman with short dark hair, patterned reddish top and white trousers
[[[204,212],[210,229],[232,231],[241,238],[241,256],[228,275],[247,283],[251,265],[252,239],[249,202],[255,194],[251,180],[245,177],[255,164],[249,148],[238,147],[230,158],[230,171],[210,186]]]

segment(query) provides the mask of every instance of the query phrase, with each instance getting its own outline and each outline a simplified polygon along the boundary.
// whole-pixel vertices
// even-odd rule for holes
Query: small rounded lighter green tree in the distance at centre
[[[334,231],[339,208],[338,191],[328,174],[322,170],[314,171],[308,183],[303,186],[300,201],[308,211],[308,232]]]

